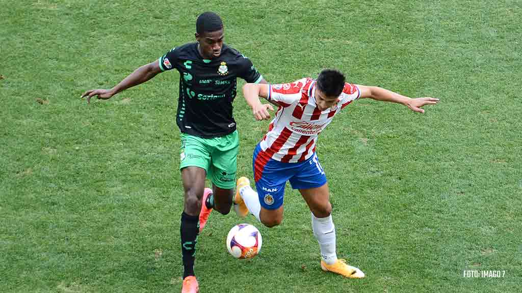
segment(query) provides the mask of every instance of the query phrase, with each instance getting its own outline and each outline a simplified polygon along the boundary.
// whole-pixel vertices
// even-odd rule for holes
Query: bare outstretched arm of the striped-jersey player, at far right
[[[369,97],[377,101],[393,102],[407,106],[411,111],[424,113],[424,109],[421,107],[424,105],[436,104],[439,100],[434,97],[418,97],[411,99],[407,97],[383,88],[361,86],[357,84],[357,87],[361,91],[361,98]]]

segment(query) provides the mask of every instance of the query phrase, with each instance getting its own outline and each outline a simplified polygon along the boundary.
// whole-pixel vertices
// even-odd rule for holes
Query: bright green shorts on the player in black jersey
[[[207,171],[207,178],[219,188],[233,189],[237,171],[239,134],[200,138],[181,133],[180,170],[196,166]]]

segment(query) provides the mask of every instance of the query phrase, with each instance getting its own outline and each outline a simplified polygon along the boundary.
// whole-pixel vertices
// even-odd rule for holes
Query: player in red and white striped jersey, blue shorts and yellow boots
[[[411,99],[378,87],[345,82],[337,70],[325,69],[318,78],[303,78],[284,84],[253,84],[243,87],[245,99],[257,120],[269,119],[270,104],[278,107],[268,132],[257,144],[253,155],[256,191],[250,181],[241,177],[234,202],[239,214],[249,211],[267,227],[279,225],[283,218],[284,186],[287,181],[299,189],[312,212],[312,229],[321,248],[321,267],[350,278],[363,278],[359,268],[337,259],[336,233],[331,217],[330,193],[326,175],[315,153],[318,134],[351,102],[369,97],[394,102],[424,113],[424,105],[438,99]]]

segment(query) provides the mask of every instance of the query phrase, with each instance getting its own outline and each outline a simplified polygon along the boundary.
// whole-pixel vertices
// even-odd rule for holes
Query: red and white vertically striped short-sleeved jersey
[[[361,92],[346,83],[337,104],[325,111],[315,103],[315,80],[302,78],[292,83],[267,84],[267,100],[279,105],[261,149],[274,160],[302,162],[315,152],[317,136],[342,108],[359,98]]]

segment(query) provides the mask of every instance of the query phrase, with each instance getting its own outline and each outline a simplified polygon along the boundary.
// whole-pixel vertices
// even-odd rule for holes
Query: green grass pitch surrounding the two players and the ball
[[[0,291],[180,291],[179,75],[109,101],[79,97],[193,41],[206,10],[221,15],[226,42],[270,82],[331,67],[353,83],[441,102],[420,115],[357,101],[319,139],[339,257],[366,278],[321,271],[310,212],[287,188],[276,228],[210,216],[196,258],[201,292],[522,291],[520,1],[0,7]],[[234,107],[238,172],[252,177],[268,122],[254,120],[241,94]],[[224,247],[229,228],[244,221],[264,239],[251,261]],[[504,276],[469,278],[467,270]]]

